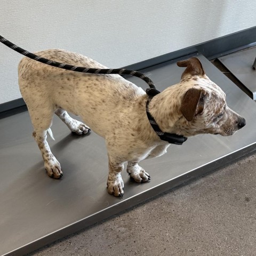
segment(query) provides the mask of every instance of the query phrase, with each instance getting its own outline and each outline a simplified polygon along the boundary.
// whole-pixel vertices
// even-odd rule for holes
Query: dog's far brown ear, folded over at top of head
[[[190,76],[203,76],[205,75],[201,62],[196,58],[192,57],[188,60],[181,60],[177,62],[179,67],[186,67],[185,71],[181,75],[181,79]]]

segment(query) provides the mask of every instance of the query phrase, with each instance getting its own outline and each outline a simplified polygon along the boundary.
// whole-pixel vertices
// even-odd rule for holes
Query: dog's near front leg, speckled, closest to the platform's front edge
[[[118,163],[108,157],[108,193],[114,196],[122,197],[124,194],[124,182],[121,176],[121,172],[124,170],[124,164]]]

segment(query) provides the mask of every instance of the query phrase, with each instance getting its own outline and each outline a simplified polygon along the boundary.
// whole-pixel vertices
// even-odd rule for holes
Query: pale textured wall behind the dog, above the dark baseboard
[[[1,1],[0,34],[28,51],[62,48],[111,68],[256,25],[256,1]],[[22,55],[0,44],[0,103],[21,97]]]

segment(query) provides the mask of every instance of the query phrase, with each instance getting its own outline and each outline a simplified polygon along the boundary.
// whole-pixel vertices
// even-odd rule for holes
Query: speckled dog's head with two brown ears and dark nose
[[[177,65],[186,67],[181,82],[174,85],[180,91],[177,103],[181,115],[174,125],[178,134],[229,136],[245,126],[245,119],[227,106],[226,94],[205,75],[197,58],[178,61]]]

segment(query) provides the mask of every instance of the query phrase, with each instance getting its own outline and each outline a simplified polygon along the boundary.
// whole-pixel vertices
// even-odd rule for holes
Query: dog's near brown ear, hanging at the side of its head
[[[200,89],[189,89],[181,102],[180,111],[187,121],[192,121],[195,115],[204,110],[205,91]]]

